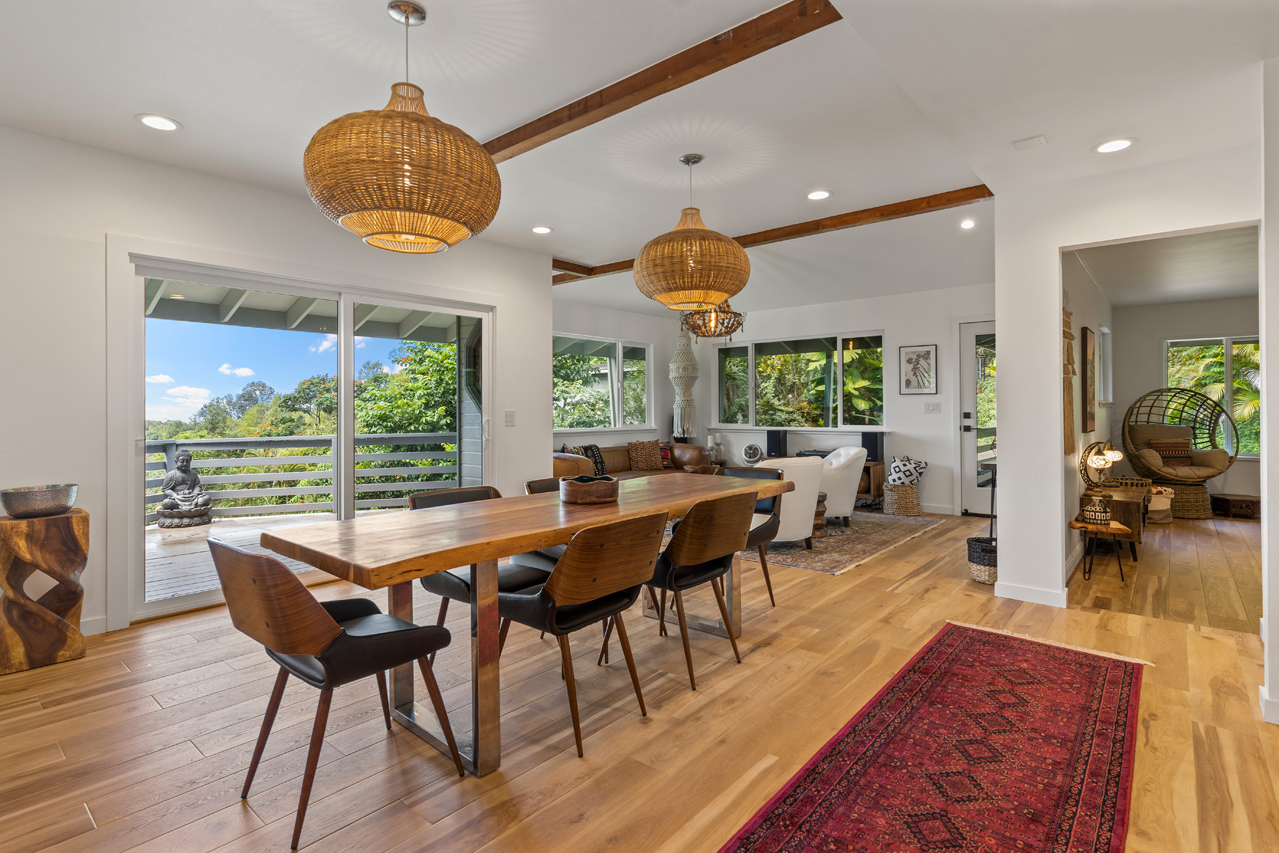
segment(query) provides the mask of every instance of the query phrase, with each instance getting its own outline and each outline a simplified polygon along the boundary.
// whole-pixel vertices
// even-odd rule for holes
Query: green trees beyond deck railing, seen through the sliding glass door
[[[404,341],[391,352],[391,364],[366,362],[358,371],[356,431],[358,435],[404,432],[454,432],[457,430],[458,368],[454,344]],[[234,439],[279,436],[333,436],[336,432],[338,379],[317,375],[280,394],[263,382],[249,382],[238,394],[214,398],[191,421],[147,421],[147,439]],[[329,463],[290,463],[290,457],[326,455],[325,446],[243,450],[196,450],[194,460],[246,459],[243,467],[224,467],[203,472],[205,477],[240,473],[315,473],[302,480],[206,483],[208,492],[226,490],[269,490],[299,487],[313,494],[270,495],[215,500],[215,506],[262,506],[274,504],[320,503],[333,499],[333,467]],[[451,472],[426,469],[457,464],[455,442],[416,445],[359,445],[358,454],[414,454],[413,459],[371,459],[356,463],[357,477],[366,483],[405,483],[454,480]],[[151,454],[147,462],[161,462]],[[252,460],[252,462],[251,462]],[[376,468],[423,468],[422,473],[371,473]],[[370,473],[365,473],[370,472]],[[155,477],[159,472],[148,472]],[[162,476],[162,474],[161,474]],[[147,490],[156,494],[157,489]],[[404,497],[405,491],[362,491],[359,500]]]

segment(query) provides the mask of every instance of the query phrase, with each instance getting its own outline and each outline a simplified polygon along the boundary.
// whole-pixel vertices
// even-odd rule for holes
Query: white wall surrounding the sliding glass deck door
[[[494,306],[492,399],[498,412],[517,412],[518,426],[505,428],[494,418],[490,482],[519,494],[526,480],[550,473],[549,257],[482,239],[431,257],[382,252],[331,224],[301,193],[4,128],[0,187],[0,340],[6,352],[0,487],[81,483],[79,505],[92,515],[83,577],[90,632],[105,628],[109,574],[118,591],[129,568],[106,559],[119,547],[105,537],[116,510],[104,426],[107,316],[120,311],[107,304],[107,234],[171,244],[179,258],[180,247],[198,247],[193,253],[240,258],[242,269]],[[137,299],[141,307],[141,292]],[[123,627],[115,592],[111,601],[111,628]]]

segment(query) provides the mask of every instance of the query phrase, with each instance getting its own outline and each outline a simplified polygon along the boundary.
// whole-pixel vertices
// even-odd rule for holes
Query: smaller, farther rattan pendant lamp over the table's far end
[[[751,278],[751,260],[737,240],[706,228],[693,207],[693,166],[702,155],[686,153],[679,161],[688,166],[688,207],[674,230],[640,249],[636,285],[674,311],[702,311],[741,293]]]

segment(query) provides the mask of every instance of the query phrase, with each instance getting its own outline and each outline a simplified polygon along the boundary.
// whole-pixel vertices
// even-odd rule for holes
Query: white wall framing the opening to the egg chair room
[[[1256,147],[995,197],[1000,596],[1065,606],[1062,249],[1256,221]]]

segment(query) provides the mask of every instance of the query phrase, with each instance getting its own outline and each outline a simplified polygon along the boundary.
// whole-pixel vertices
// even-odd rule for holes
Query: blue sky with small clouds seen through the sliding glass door
[[[147,419],[187,421],[211,398],[261,381],[292,391],[316,373],[338,372],[336,335],[147,318]],[[389,366],[400,341],[356,338],[356,368]]]

